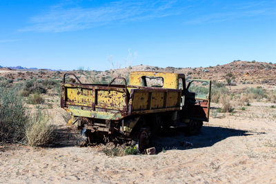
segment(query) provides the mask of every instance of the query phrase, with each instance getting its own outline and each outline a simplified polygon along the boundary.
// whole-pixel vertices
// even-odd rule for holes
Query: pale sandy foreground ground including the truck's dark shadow
[[[0,146],[0,183],[276,183],[276,110],[266,103],[212,115],[197,136],[156,138],[159,153],[151,156],[111,157],[77,147],[77,132],[61,121],[63,110],[52,113],[58,143]]]

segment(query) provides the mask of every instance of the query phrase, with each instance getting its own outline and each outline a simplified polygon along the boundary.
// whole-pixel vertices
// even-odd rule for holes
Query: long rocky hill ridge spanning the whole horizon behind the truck
[[[23,68],[23,67],[21,67]],[[13,68],[1,68],[0,70],[11,70]],[[86,71],[73,70],[77,76],[86,81],[90,77],[98,82],[110,81],[115,76],[128,77],[131,71],[166,71],[186,74],[186,79],[210,79],[212,81],[226,83],[226,78],[231,79],[236,84],[276,84],[276,63],[266,63],[257,61],[233,61],[225,65],[210,66],[207,68],[159,68],[150,65],[135,65],[127,68],[106,70],[106,71]],[[64,71],[53,70],[22,70],[17,69],[10,73],[0,72],[1,76],[7,79],[61,79]],[[87,80],[89,81],[89,80]]]

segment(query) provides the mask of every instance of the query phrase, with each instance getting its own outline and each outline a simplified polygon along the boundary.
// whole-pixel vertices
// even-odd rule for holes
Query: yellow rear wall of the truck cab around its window
[[[162,88],[178,89],[179,74],[170,73],[170,72],[131,72],[130,85],[141,86],[142,76],[162,77],[164,79],[164,85]]]

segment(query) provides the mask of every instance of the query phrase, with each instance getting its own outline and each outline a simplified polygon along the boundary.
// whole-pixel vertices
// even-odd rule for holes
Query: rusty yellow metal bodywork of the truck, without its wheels
[[[162,83],[149,87],[146,77]],[[90,134],[116,131],[130,136],[137,131],[137,125],[148,127],[153,123],[163,127],[167,122],[170,125],[176,121],[188,123],[190,119],[208,121],[210,81],[206,81],[208,94],[203,96],[188,91],[190,83],[186,88],[184,74],[131,72],[130,85],[126,85],[126,79],[119,79],[124,85],[112,84],[115,79],[108,85],[63,83],[61,108],[70,112],[69,123],[78,121],[78,127],[89,130]]]

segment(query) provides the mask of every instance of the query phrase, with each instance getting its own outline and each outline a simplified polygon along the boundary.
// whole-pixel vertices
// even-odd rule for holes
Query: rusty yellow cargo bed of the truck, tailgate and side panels
[[[119,120],[132,114],[181,109],[181,90],[135,85],[63,83],[61,107],[74,116]]]

